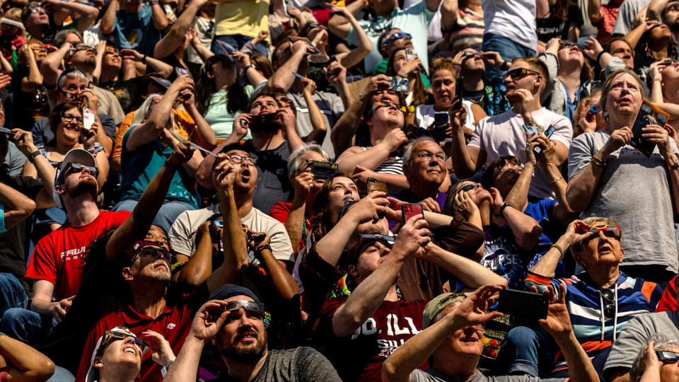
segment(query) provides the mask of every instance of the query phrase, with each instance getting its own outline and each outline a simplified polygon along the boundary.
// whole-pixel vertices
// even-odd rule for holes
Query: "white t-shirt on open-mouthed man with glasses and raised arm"
[[[219,206],[214,205],[203,209],[182,212],[170,227],[168,238],[172,249],[177,253],[191,257],[196,251],[196,234],[198,227],[211,216],[219,214]],[[277,260],[291,261],[292,244],[285,226],[280,221],[253,207],[240,221],[253,232],[265,232],[271,239],[271,250]],[[248,261],[257,264],[252,251],[248,253]]]

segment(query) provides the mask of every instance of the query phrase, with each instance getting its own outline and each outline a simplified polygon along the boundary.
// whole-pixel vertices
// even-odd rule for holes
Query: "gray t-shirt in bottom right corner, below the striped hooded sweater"
[[[640,314],[627,321],[608,354],[603,366],[604,375],[608,378],[608,373],[618,367],[631,369],[637,354],[656,333],[679,341],[679,317],[676,311]]]

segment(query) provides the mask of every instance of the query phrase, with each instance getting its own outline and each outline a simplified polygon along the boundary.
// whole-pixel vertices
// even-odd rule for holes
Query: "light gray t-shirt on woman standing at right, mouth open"
[[[569,178],[588,166],[609,137],[610,132],[600,130],[573,139],[568,155]],[[670,144],[676,154],[673,139]],[[646,158],[632,146],[624,146],[610,155],[591,202],[580,218],[606,216],[620,224],[625,237],[622,264],[664,265],[677,272],[679,260],[671,206],[667,166],[658,148]]]

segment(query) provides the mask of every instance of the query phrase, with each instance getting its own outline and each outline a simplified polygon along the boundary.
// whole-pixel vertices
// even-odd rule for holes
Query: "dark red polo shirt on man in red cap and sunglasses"
[[[110,313],[104,316],[97,321],[92,330],[90,330],[90,334],[87,336],[87,341],[85,342],[83,354],[78,366],[78,374],[76,374],[76,381],[85,381],[87,371],[90,369],[92,352],[94,352],[94,347],[97,345],[99,337],[104,335],[106,330],[110,330],[117,326],[124,326],[125,328],[128,328],[130,332],[133,332],[134,335],[141,338],[144,338],[140,335],[144,330],[153,330],[154,332],[161,333],[161,335],[170,342],[170,347],[172,347],[172,351],[175,355],[179,354],[182,345],[184,345],[184,340],[191,330],[193,316],[198,311],[198,308],[200,308],[200,304],[207,301],[208,297],[209,292],[207,291],[207,287],[203,284],[199,287],[199,291],[189,297],[178,299],[178,303],[174,305],[166,305],[163,313],[156,319],[137,313],[132,306],[127,306],[124,311]],[[146,341],[148,340],[149,339],[146,339]],[[157,344],[151,342],[151,347],[155,345]],[[151,359],[151,352],[146,352],[141,357],[141,370],[139,371],[139,378],[135,381],[163,381],[161,369],[163,369],[163,366],[156,364],[156,362]]]

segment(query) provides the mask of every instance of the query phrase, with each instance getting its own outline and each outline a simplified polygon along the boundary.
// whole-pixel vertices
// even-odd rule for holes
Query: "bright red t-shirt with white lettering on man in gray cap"
[[[89,246],[105,231],[120,226],[129,214],[127,211],[101,211],[96,219],[84,226],[71,226],[66,221],[37,242],[26,277],[54,284],[57,301],[74,296],[83,281],[83,265]]]

